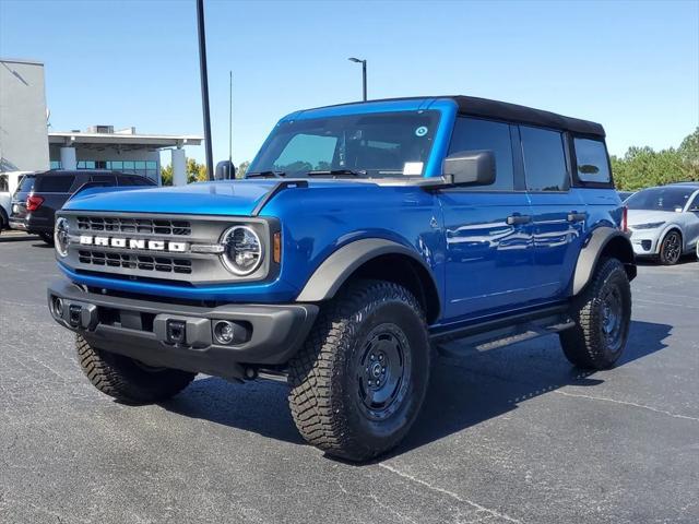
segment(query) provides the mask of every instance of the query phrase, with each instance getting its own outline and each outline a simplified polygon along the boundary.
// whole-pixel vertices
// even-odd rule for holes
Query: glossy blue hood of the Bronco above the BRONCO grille
[[[173,188],[115,190],[91,188],[74,195],[63,210],[126,213],[186,213],[249,216],[274,190],[279,179],[225,180]],[[309,180],[309,188],[367,183],[354,180]],[[125,188],[126,189],[126,188]]]

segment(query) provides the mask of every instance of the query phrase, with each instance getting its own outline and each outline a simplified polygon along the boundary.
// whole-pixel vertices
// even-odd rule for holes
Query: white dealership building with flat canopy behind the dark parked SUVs
[[[44,64],[0,59],[0,171],[115,169],[159,182],[161,152],[169,150],[173,181],[183,184],[185,146],[201,142],[197,135],[142,134],[114,126],[49,131]]]

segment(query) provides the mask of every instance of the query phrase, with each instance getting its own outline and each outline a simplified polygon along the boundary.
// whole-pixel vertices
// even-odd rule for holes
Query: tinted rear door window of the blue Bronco
[[[520,126],[529,191],[566,191],[569,187],[564,138],[558,131]]]

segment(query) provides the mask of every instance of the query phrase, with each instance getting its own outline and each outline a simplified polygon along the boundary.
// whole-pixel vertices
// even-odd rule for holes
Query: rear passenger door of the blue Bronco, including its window
[[[532,205],[534,269],[530,282],[541,298],[566,296],[582,249],[587,210],[571,190],[570,158],[565,133],[519,126],[526,191]]]

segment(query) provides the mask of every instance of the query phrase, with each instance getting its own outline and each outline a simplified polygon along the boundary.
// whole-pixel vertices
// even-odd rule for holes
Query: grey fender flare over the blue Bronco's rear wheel
[[[597,227],[592,231],[592,235],[590,235],[585,246],[578,255],[576,273],[572,279],[573,295],[578,295],[588,285],[605,248],[612,247],[611,242],[614,242],[615,254],[624,263],[629,281],[636,277],[633,247],[631,246],[629,237],[613,227]]]

